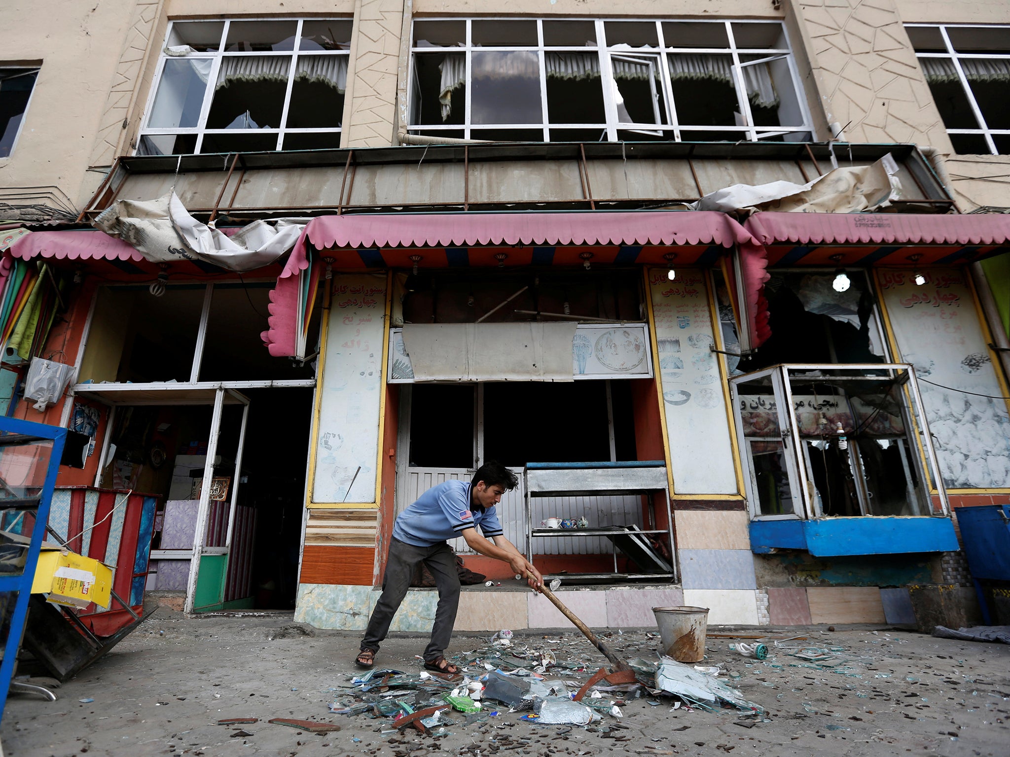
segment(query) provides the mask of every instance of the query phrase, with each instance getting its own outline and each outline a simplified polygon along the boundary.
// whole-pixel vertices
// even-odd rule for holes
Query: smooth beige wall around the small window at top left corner
[[[102,106],[113,84],[135,0],[6,0],[0,62],[41,70],[9,157],[0,158],[6,202],[18,188],[55,187],[80,209],[101,175],[87,174]]]

